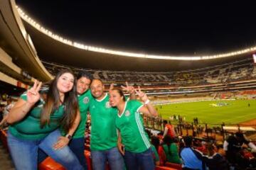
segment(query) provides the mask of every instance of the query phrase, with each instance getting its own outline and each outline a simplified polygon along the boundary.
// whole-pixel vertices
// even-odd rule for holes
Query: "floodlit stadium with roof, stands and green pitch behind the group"
[[[241,164],[246,166],[236,161],[228,162],[228,169],[256,169],[255,45],[223,52],[195,52],[193,55],[136,52],[122,47],[88,45],[66,38],[68,35],[59,35],[40,24],[20,4],[14,0],[0,1],[1,120],[4,120],[4,107],[9,106],[9,101],[16,103],[23,92],[33,89],[36,80],[48,82],[58,77],[63,69],[71,69],[76,76],[80,72],[87,72],[92,79],[100,79],[105,85],[104,93],[110,92],[112,85],[120,88],[128,87],[128,83],[146,94],[147,100],[140,98],[141,102],[146,107],[150,101],[158,113],[157,116],[140,115],[149,138],[159,137],[163,142],[164,138],[161,137],[166,135],[167,123],[176,134],[178,148],[183,142],[181,139],[189,136],[193,137],[194,148],[206,155],[208,145],[220,144],[218,147],[223,149],[225,142],[230,142],[230,137],[242,133],[246,136],[244,144],[247,147],[241,146],[242,160],[246,162]],[[26,10],[29,11],[29,8]],[[124,95],[128,97],[129,93]],[[139,100],[139,96],[136,99]],[[90,121],[93,121],[91,116],[90,110],[86,112],[88,121],[84,130],[83,156],[87,169],[95,167],[89,137]],[[4,155],[0,166],[19,169],[14,165],[14,156],[8,146],[11,130],[8,130],[9,123],[6,122],[1,121],[0,124],[0,150]],[[143,130],[142,133],[146,132]],[[226,151],[225,148],[223,151]],[[161,162],[155,164],[154,169],[184,169],[184,162],[185,158],[180,164]],[[38,169],[65,169],[53,157],[47,157],[36,166]],[[112,169],[110,162],[105,166],[105,169]]]

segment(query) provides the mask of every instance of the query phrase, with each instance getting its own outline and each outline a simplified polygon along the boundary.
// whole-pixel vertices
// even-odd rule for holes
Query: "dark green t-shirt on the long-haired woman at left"
[[[21,98],[27,101],[27,94],[22,94]],[[43,104],[43,99],[40,99],[22,120],[10,125],[9,132],[11,132],[11,135],[23,140],[41,140],[50,132],[59,128],[59,121],[63,118],[64,114],[64,106],[62,105],[58,110],[54,111],[54,113],[50,115],[50,123],[41,128],[41,111],[43,110]]]

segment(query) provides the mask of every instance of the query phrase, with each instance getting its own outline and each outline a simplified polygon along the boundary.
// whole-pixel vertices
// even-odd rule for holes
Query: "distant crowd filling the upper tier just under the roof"
[[[43,62],[48,71],[55,75],[60,69],[70,66],[63,66]],[[71,67],[74,72],[82,68]],[[230,64],[206,67],[203,69],[188,70],[182,72],[128,72],[128,71],[107,71],[87,70],[95,79],[102,79],[105,82],[125,82],[140,84],[164,83],[169,85],[203,85],[203,84],[225,84],[233,81],[254,79],[256,77],[256,65],[251,59],[240,60]]]

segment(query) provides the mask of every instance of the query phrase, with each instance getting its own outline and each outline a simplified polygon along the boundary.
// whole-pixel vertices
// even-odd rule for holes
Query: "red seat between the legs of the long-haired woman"
[[[65,170],[65,168],[55,162],[50,157],[47,157],[41,164],[38,165],[39,170]]]

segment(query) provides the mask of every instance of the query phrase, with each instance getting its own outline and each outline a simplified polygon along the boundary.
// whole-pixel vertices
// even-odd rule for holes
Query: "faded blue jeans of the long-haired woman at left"
[[[21,140],[8,132],[7,141],[15,168],[21,170],[37,169],[38,148],[41,148],[43,152],[46,152],[56,162],[65,166],[66,169],[82,169],[78,159],[69,147],[63,147],[58,150],[53,149],[58,137],[60,137],[59,130],[50,132],[42,140]]]

